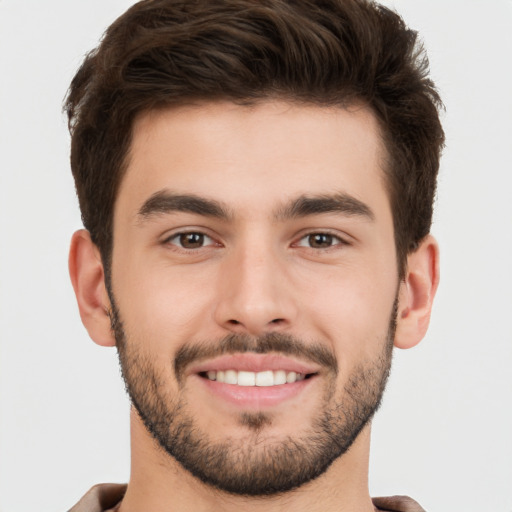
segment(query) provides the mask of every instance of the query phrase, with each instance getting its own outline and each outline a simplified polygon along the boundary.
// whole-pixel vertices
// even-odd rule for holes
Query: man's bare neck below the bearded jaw
[[[131,412],[131,476],[119,512],[373,512],[368,492],[370,426],[320,477],[271,497],[227,494],[203,484],[166,454]]]

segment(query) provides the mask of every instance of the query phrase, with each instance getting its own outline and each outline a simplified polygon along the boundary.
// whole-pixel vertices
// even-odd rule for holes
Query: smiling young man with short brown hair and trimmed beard
[[[70,273],[132,468],[73,511],[422,510],[372,500],[368,456],[438,284],[439,106],[363,0],[146,0],[107,30],[66,103]]]

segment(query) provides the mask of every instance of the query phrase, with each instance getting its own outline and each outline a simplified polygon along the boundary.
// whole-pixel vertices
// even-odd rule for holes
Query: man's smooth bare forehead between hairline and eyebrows
[[[255,214],[299,195],[344,193],[388,208],[380,130],[364,107],[216,102],[143,113],[116,212],[161,190]]]

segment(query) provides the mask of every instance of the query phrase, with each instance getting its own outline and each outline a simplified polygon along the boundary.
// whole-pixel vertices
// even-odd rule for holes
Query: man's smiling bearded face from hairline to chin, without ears
[[[378,407],[398,277],[364,108],[215,103],[134,126],[110,298],[127,387],[204,482],[316,478]]]

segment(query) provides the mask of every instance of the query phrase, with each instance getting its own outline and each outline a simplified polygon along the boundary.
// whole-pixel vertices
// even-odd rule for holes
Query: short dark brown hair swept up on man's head
[[[135,117],[267,98],[372,109],[387,149],[402,275],[430,230],[442,105],[417,33],[367,0],[143,0],[107,29],[65,104],[82,219],[107,267]]]

